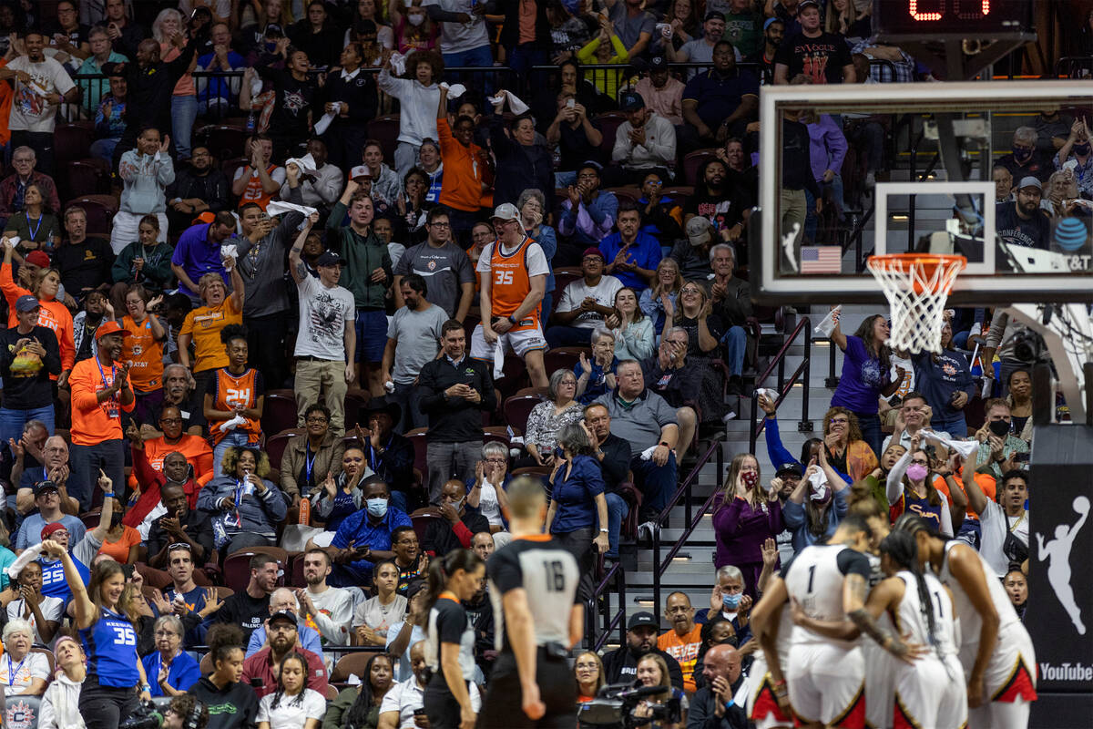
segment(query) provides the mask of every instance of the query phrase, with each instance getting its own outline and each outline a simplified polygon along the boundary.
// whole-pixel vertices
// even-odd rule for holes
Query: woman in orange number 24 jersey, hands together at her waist
[[[213,470],[224,475],[224,454],[228,448],[255,447],[262,436],[262,404],[266,380],[262,373],[247,366],[247,339],[240,325],[220,332],[227,365],[215,369],[203,397],[204,416],[213,443]]]

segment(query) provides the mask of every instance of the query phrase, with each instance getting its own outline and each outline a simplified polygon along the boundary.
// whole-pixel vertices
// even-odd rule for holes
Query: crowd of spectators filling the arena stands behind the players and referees
[[[924,79],[869,4],[0,0],[9,702],[114,729],[139,685],[213,729],[427,729],[428,566],[508,543],[514,471],[546,484],[587,597],[737,416],[759,89]],[[889,164],[884,129],[780,122],[781,224],[820,239],[856,204],[848,151],[859,190]],[[1046,242],[1091,166],[1083,120],[1019,129],[999,230]],[[576,652],[583,701],[637,680],[690,706],[680,726],[745,727],[725,704],[749,611],[848,513],[967,541],[1023,610],[1032,381],[1015,324],[954,317],[914,357],[883,316],[836,328],[843,377],[799,455],[761,398],[776,473],[732,461],[709,603],[672,593],[668,632],[638,612],[627,645]],[[978,415],[968,334],[1004,380]],[[968,434],[971,468],[936,438]],[[478,707],[486,586],[463,605]],[[140,661],[96,647],[110,630]]]

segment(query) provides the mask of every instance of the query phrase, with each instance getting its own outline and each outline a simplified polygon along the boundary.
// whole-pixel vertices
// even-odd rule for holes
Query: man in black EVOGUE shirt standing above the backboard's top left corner
[[[774,82],[789,83],[799,73],[810,83],[854,83],[854,59],[846,39],[824,32],[820,24],[820,3],[801,0],[797,3],[799,33],[786,36],[774,57]]]

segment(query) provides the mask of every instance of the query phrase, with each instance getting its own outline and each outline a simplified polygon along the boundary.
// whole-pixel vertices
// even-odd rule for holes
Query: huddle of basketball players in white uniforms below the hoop
[[[1001,583],[912,514],[891,532],[847,516],[771,580],[752,630],[762,650],[734,703],[757,729],[1024,729],[1036,699],[1032,642]]]

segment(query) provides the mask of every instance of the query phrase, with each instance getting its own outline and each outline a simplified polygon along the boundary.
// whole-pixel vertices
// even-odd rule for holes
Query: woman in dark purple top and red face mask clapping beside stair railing
[[[759,461],[751,454],[738,454],[729,465],[724,490],[714,498],[714,566],[739,567],[744,593],[752,600],[759,599],[755,586],[763,572],[763,542],[785,529],[777,490],[764,493],[759,484]]]

